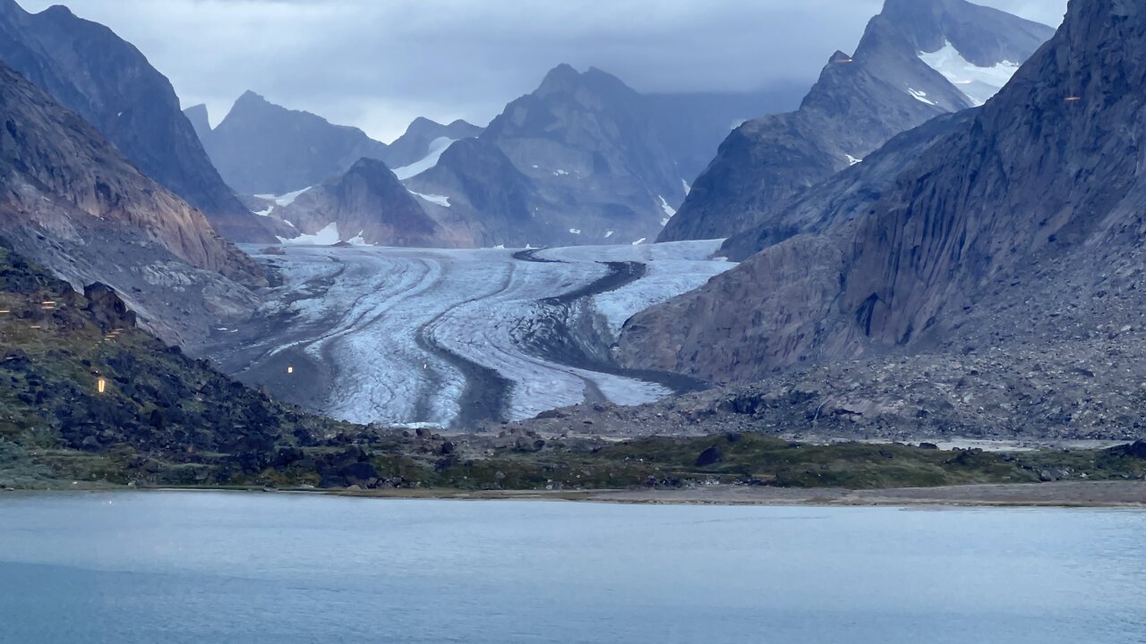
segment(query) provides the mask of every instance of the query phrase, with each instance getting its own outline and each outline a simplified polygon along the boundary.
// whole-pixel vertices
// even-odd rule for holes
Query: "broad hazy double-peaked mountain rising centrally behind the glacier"
[[[635,243],[651,239],[684,197],[684,180],[657,131],[646,97],[601,70],[578,72],[570,65],[550,71],[532,94],[511,102],[478,138],[464,158],[495,160],[497,170],[462,167],[453,158],[453,182],[438,173],[416,178],[413,189],[452,202],[493,203],[503,190],[521,212],[511,215],[520,228],[493,230],[496,238],[533,245]],[[500,150],[512,165],[501,163]],[[442,157],[445,159],[445,156]],[[473,179],[515,175],[511,186],[485,186]],[[518,178],[520,175],[523,179]],[[457,191],[468,186],[478,194]],[[524,238],[525,233],[529,238]],[[606,242],[609,239],[609,242]]]

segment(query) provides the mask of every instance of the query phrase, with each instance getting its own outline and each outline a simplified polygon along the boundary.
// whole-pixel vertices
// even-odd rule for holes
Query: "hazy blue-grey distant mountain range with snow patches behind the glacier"
[[[560,65],[537,91],[510,103],[489,128],[419,118],[388,146],[253,92],[240,97],[213,129],[204,105],[186,113],[226,181],[243,195],[265,199],[254,203],[256,212],[280,209],[276,221],[265,223],[282,238],[313,241],[317,226],[327,231],[322,239],[335,238],[337,228],[339,241],[377,244],[633,243],[659,234],[691,178],[730,128],[749,116],[794,104],[800,92],[783,86],[748,94],[643,96],[601,70],[580,73]],[[447,148],[476,138],[499,151],[473,156],[476,150],[460,150],[446,157],[446,166],[435,167]],[[466,159],[486,163],[500,155],[513,168],[512,179],[490,167],[465,165]],[[312,199],[297,199],[297,194],[337,181],[362,158],[383,162],[409,186],[415,203],[435,222],[432,235],[427,237],[424,227],[393,228],[394,222],[413,220],[408,211],[390,212],[407,210],[402,199],[393,201],[392,191],[337,205],[327,195],[321,212],[300,214]],[[504,165],[495,159],[494,167]],[[501,190],[516,196],[497,195]],[[275,201],[290,202],[293,217],[308,225],[285,223],[296,222]],[[375,210],[354,212],[366,203]],[[354,221],[347,219],[352,212]],[[388,223],[363,227],[370,218]],[[358,235],[370,228],[390,234]]]

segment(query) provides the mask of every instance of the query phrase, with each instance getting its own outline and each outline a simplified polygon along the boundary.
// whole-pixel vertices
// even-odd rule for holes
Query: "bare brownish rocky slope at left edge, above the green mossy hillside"
[[[194,344],[254,306],[261,269],[86,120],[0,63],[0,231],[77,286],[125,293],[149,329]]]

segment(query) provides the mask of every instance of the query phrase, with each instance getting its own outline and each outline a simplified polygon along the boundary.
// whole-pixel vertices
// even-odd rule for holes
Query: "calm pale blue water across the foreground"
[[[0,496],[0,642],[1146,642],[1146,513]]]

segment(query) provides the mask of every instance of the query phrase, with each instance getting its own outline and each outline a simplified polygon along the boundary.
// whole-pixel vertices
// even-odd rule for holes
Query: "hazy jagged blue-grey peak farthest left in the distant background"
[[[204,140],[227,184],[243,195],[285,195],[317,186],[386,146],[356,127],[332,125],[246,92]]]

